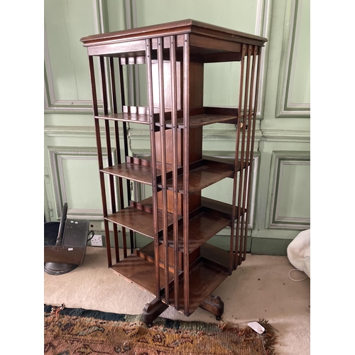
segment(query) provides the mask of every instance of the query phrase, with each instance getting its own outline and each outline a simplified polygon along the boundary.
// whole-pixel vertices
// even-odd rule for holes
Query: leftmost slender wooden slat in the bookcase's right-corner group
[[[238,106],[238,124],[236,128],[236,155],[234,163],[234,180],[233,180],[233,195],[232,195],[232,221],[231,221],[231,245],[230,245],[230,258],[229,258],[229,273],[231,273],[232,268],[235,270],[237,263],[239,263],[239,215],[240,215],[240,206],[238,206],[238,218],[236,219],[236,179],[238,178],[238,160],[239,160],[239,141],[240,141],[240,132],[241,132],[241,106],[243,102],[243,87],[244,87],[244,58],[246,53],[246,45],[243,45],[241,51],[241,72],[239,79],[239,106]],[[240,179],[240,177],[239,177]],[[236,222],[235,222],[236,219]],[[236,238],[234,241],[234,224],[236,224]],[[233,261],[233,241],[234,241],[234,265],[232,266]]]

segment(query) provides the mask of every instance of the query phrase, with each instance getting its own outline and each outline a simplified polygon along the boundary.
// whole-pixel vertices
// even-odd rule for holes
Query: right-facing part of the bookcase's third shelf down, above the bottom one
[[[189,222],[189,253],[192,253],[205,241],[231,223],[229,219],[214,216],[211,213],[200,212]],[[179,250],[184,251],[183,224],[178,228]],[[173,247],[173,231],[168,233],[168,244]]]

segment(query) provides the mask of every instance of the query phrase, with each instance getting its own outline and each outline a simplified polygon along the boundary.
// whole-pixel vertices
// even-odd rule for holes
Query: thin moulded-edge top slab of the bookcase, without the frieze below
[[[253,45],[263,45],[267,42],[267,38],[258,35],[235,31],[230,28],[215,26],[192,19],[89,35],[81,38],[80,41],[84,43],[85,47],[89,47],[92,45],[120,43],[128,40],[142,40],[144,38],[156,38],[166,35],[181,35],[184,33],[195,33],[197,35],[220,38],[221,40]]]

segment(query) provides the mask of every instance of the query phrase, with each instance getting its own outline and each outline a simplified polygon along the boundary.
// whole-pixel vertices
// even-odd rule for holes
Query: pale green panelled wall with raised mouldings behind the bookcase
[[[47,221],[68,214],[102,229],[86,48],[80,38],[94,33],[193,18],[268,38],[262,59],[254,146],[251,221],[252,253],[280,255],[297,234],[310,228],[310,0],[45,0],[44,165]],[[236,63],[205,65],[204,104],[236,106]],[[126,92],[146,103],[144,65],[126,70]],[[98,90],[99,90],[99,78]],[[227,84],[226,84],[227,83]],[[131,154],[147,154],[148,131],[129,127]],[[204,128],[204,153],[233,155],[235,128]],[[112,153],[112,152],[111,152]],[[135,190],[149,194],[149,190]],[[230,199],[230,181],[203,191]],[[225,229],[211,243],[228,248]],[[137,244],[144,239],[137,236]]]

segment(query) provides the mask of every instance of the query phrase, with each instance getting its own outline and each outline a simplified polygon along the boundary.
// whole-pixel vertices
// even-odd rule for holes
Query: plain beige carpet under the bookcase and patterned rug
[[[114,259],[113,259],[114,260]],[[214,292],[224,302],[223,322],[265,318],[277,329],[278,354],[310,354],[310,279],[288,277],[287,256],[247,254],[246,261]],[[294,279],[305,277],[295,271]],[[87,247],[84,262],[65,275],[44,273],[44,303],[136,315],[154,296],[107,268],[106,249]],[[217,322],[198,308],[190,317],[169,307],[161,317]]]

